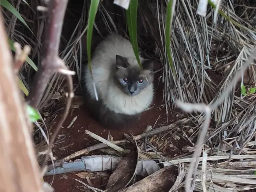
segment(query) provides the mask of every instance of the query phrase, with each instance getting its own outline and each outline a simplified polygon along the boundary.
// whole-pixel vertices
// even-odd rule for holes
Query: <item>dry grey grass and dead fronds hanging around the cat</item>
[[[23,1],[12,1],[15,7],[19,7],[20,14],[26,18],[34,34],[23,27],[19,21],[8,11],[4,12],[8,37],[20,44],[31,46],[30,58],[38,63],[41,59],[41,39],[45,25],[45,14],[36,11],[37,5],[43,5],[41,1],[28,0],[31,9]],[[68,64],[71,70],[77,72],[81,78],[82,61],[86,57],[80,52],[83,46],[82,35],[86,33],[86,22],[89,1],[84,0],[85,5],[79,11],[80,18],[72,19],[73,9],[68,10],[70,18],[66,18],[65,26],[76,23],[72,31],[63,34],[60,57]],[[163,101],[166,113],[173,110],[176,99],[183,102],[206,104],[215,102],[229,85],[234,74],[244,65],[248,58],[248,50],[255,47],[256,30],[256,4],[251,1],[235,0],[222,3],[220,9],[228,18],[218,15],[217,24],[213,24],[214,12],[211,8],[207,11],[206,18],[196,15],[197,1],[177,1],[176,12],[172,26],[172,57],[176,69],[177,80],[174,81],[170,72],[165,50],[165,15],[166,2],[161,0],[140,0],[138,8],[138,41],[139,47],[147,57],[157,57],[163,64],[162,82],[164,83]],[[143,6],[142,6],[143,5]],[[230,21],[231,20],[231,21]],[[239,25],[237,25],[237,23]],[[126,34],[124,11],[120,10],[112,1],[102,1],[96,16],[95,34],[106,35],[109,32],[118,31]],[[65,30],[64,30],[65,32]],[[71,36],[71,37],[70,37]],[[221,74],[219,76],[208,75],[206,69]],[[241,83],[255,87],[255,64],[251,65],[248,75],[242,78]],[[25,64],[20,71],[20,78],[27,88],[31,84],[33,69]],[[245,74],[246,75],[246,74]],[[249,79],[249,80],[248,80]],[[52,111],[55,100],[51,99],[56,93],[63,94],[65,82],[60,75],[54,75],[49,81],[45,96],[42,99],[39,110]],[[79,86],[79,85],[78,85]],[[197,170],[197,191],[244,191],[256,188],[254,171],[255,163],[252,158],[255,154],[256,109],[255,94],[242,96],[240,85],[237,84],[226,95],[223,103],[212,112],[211,126],[204,140],[200,164]],[[189,142],[194,142],[199,128],[203,123],[202,114],[188,114],[193,126],[185,127]],[[43,126],[44,127],[44,126]],[[192,133],[188,133],[189,130]],[[47,129],[44,129],[47,130]],[[47,138],[47,136],[45,137]],[[193,151],[191,149],[190,153]],[[225,159],[223,159],[223,155]],[[236,155],[237,158],[232,158]],[[211,158],[210,158],[211,157]],[[180,173],[186,169],[191,156],[182,157]],[[209,159],[210,158],[210,159]],[[239,160],[235,160],[239,159]],[[205,174],[202,174],[202,170]],[[233,175],[235,175],[233,177]],[[239,175],[239,176],[237,176]],[[239,177],[239,179],[237,178]],[[203,185],[202,185],[203,184]],[[209,188],[210,187],[210,188]]]

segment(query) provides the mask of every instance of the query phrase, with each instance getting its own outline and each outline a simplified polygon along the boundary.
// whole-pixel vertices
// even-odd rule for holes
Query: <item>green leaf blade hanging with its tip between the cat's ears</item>
[[[136,59],[141,66],[139,59],[139,48],[137,41],[137,12],[138,10],[138,0],[131,0],[128,10],[126,10],[126,19],[129,31],[129,37],[131,40],[133,52],[135,53]]]

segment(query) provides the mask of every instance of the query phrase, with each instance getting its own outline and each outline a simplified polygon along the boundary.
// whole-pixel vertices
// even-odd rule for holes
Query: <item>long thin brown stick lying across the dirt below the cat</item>
[[[164,131],[169,131],[170,129],[175,129],[176,127],[178,127],[178,125],[181,125],[181,124],[184,124],[184,123],[188,123],[190,120],[187,119],[187,118],[184,118],[184,119],[181,119],[179,121],[176,121],[175,123],[173,124],[170,124],[170,125],[166,125],[166,126],[162,126],[162,127],[159,127],[157,129],[153,129],[152,131],[150,132],[147,132],[147,133],[142,133],[141,135],[137,135],[135,136],[135,140],[139,140],[139,139],[143,139],[146,137],[146,135],[148,137],[150,136],[153,136],[153,135],[157,135],[161,132],[164,132]],[[125,144],[125,143],[128,143],[129,141],[126,140],[126,139],[123,139],[123,140],[119,140],[119,141],[112,141],[112,143],[114,144]],[[67,157],[64,157],[62,159],[60,159],[59,161],[55,162],[54,165],[50,165],[49,168],[48,168],[48,171],[52,170],[53,167],[59,167],[61,166],[63,163],[67,162],[67,161],[70,161],[71,159],[74,159],[76,157],[79,157],[80,155],[83,155],[83,154],[87,154],[91,151],[94,151],[94,150],[97,150],[97,149],[101,149],[101,148],[105,148],[105,147],[108,147],[108,145],[104,144],[104,143],[99,143],[99,144],[96,144],[94,146],[91,146],[91,147],[87,147],[85,149],[82,149],[80,151],[77,151],[71,155],[68,155]]]

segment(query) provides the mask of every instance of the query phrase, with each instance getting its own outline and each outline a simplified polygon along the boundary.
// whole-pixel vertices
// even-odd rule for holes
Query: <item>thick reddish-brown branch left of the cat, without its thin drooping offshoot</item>
[[[33,108],[38,107],[50,76],[61,68],[67,68],[63,62],[59,62],[60,36],[67,3],[68,0],[49,1],[42,62],[38,67],[38,72],[35,75],[28,97],[28,103]]]

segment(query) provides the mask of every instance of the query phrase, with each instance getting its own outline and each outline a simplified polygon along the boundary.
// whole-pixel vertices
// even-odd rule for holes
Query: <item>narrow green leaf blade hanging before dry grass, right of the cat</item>
[[[170,39],[171,23],[172,23],[172,16],[173,16],[172,8],[173,8],[173,0],[169,0],[167,4],[167,13],[166,13],[166,22],[165,22],[165,48],[166,48],[167,57],[169,61],[169,67],[172,69],[174,79],[176,79],[176,73],[173,66],[172,54],[170,52],[170,45],[172,43],[172,39]]]

